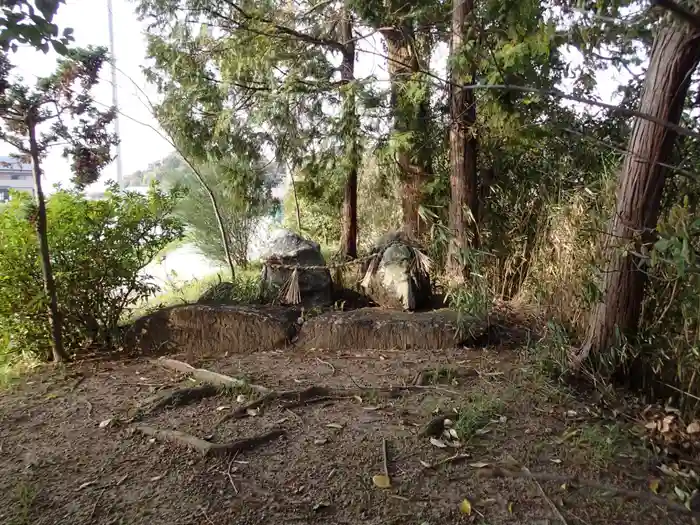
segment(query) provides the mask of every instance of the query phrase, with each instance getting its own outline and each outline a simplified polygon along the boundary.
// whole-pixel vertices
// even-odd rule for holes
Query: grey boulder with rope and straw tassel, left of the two
[[[307,308],[333,304],[333,280],[318,243],[289,230],[277,230],[262,252],[263,287],[283,290],[294,280],[299,287],[300,304]],[[294,303],[281,298],[283,304]]]

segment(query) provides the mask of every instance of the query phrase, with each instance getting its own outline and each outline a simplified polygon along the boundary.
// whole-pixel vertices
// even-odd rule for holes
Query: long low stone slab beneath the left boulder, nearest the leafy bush
[[[133,323],[126,346],[143,353],[168,351],[249,354],[289,344],[296,308],[191,304],[158,310]]]

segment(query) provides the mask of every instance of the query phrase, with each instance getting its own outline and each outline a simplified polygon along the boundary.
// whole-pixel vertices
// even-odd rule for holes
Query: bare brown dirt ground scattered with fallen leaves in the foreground
[[[0,393],[0,523],[691,522],[654,500],[666,496],[649,488],[659,474],[630,433],[638,425],[607,419],[515,351],[170,357],[275,391],[333,393],[272,399],[217,427],[254,396],[229,389],[138,421],[215,443],[281,431],[250,450],[205,456],[134,430],[149,398],[195,385],[153,359],[39,371]],[[436,412],[453,432],[431,442],[422,431]],[[388,488],[373,483],[384,444]],[[626,501],[587,482],[638,495]]]

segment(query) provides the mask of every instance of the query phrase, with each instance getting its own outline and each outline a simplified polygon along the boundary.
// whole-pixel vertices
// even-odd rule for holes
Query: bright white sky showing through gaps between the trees
[[[124,175],[128,175],[139,169],[145,169],[148,164],[165,157],[171,146],[153,129],[141,123],[158,127],[157,122],[150,111],[141,101],[143,95],[134,86],[133,79],[152,100],[156,100],[155,89],[149,86],[142,73],[141,67],[145,65],[146,41],[144,38],[145,25],[139,22],[134,14],[134,4],[130,0],[113,0],[113,15],[115,28],[115,47],[117,67],[123,72],[117,72],[117,86],[119,90],[119,126],[121,135],[121,156]],[[59,9],[55,22],[63,29],[74,29],[75,44],[109,45],[107,0],[67,0],[66,5]],[[386,80],[385,61],[376,54],[383,54],[378,38],[363,42],[360,48],[370,53],[358,54],[356,75],[358,78],[376,74],[380,80]],[[372,54],[376,53],[376,54]],[[444,69],[444,55],[440,53],[435,57],[434,65],[438,70]],[[15,71],[22,75],[26,81],[34,82],[37,76],[50,74],[56,64],[56,55],[51,51],[44,55],[32,48],[22,48],[16,54],[11,55],[12,62],[17,66]],[[441,64],[440,64],[441,63]],[[442,66],[442,67],[440,67]],[[126,75],[126,76],[125,76]],[[610,94],[621,81],[616,72],[609,72],[599,77],[599,94],[605,102],[610,102]],[[94,93],[99,104],[110,106],[112,103],[112,83],[109,66],[105,66],[101,74],[102,81],[96,87]],[[141,98],[139,98],[141,97]],[[131,118],[129,118],[131,117]],[[141,123],[135,122],[139,121]],[[0,143],[0,155],[13,153],[13,148],[5,143]],[[46,189],[56,183],[67,185],[70,179],[69,162],[62,158],[60,148],[49,154],[44,161],[45,180],[48,183]],[[116,163],[112,163],[104,171],[101,181],[116,180]],[[102,186],[100,182],[96,184]]]

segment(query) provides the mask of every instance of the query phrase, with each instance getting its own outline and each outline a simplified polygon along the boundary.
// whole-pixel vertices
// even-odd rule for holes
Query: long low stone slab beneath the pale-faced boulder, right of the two
[[[461,330],[460,330],[461,326]],[[404,312],[360,308],[313,317],[300,328],[295,346],[332,350],[439,350],[478,338],[485,322],[463,319],[448,309]]]

